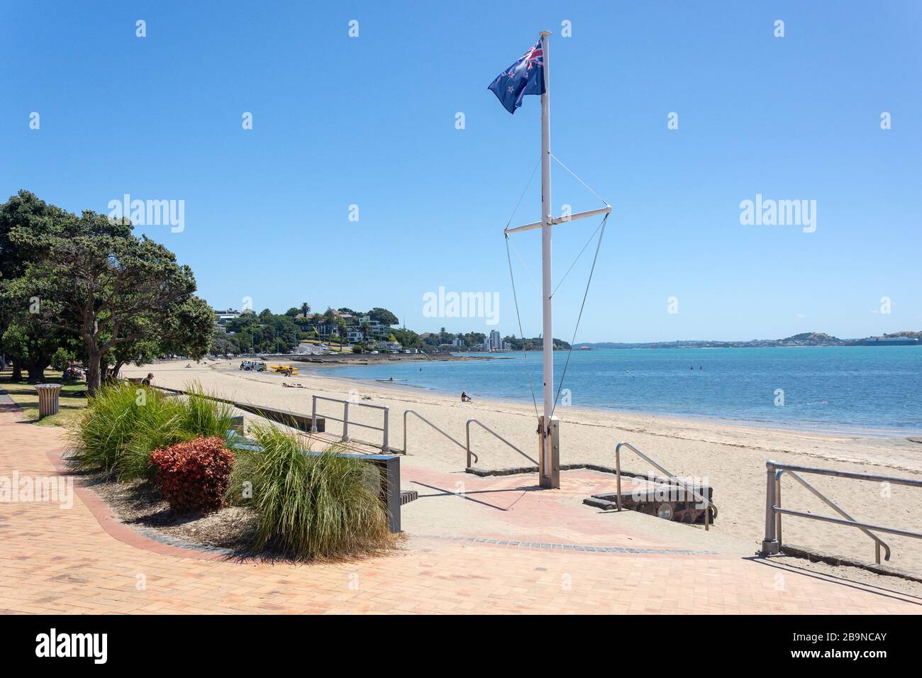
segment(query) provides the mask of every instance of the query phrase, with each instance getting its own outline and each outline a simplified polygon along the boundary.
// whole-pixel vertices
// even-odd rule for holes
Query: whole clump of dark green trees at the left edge
[[[164,353],[206,353],[214,315],[192,270],[132,231],[128,220],[77,217],[28,191],[0,206],[3,350],[33,364],[30,378],[60,348],[86,362],[91,394],[109,365],[117,374]]]

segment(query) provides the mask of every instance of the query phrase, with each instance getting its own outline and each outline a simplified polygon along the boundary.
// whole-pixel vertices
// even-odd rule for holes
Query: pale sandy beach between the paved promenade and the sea
[[[239,359],[203,361],[186,367],[189,363],[175,361],[127,367],[123,375],[143,376],[152,372],[156,386],[171,388],[183,388],[197,380],[222,398],[304,414],[311,412],[314,393],[327,398],[358,398],[360,402],[386,405],[390,408],[390,445],[395,450],[404,448],[405,410],[419,412],[462,442],[465,423],[476,418],[532,457],[536,456],[537,420],[530,403],[483,399],[462,403],[459,398],[423,389],[337,377],[336,369],[327,369],[321,374],[283,377],[242,372],[238,369],[239,363]],[[283,382],[300,384],[302,388],[283,387]],[[359,410],[355,414],[357,421],[380,425],[378,410],[353,410]],[[318,413],[342,416],[340,406],[329,402],[322,404]],[[627,441],[680,477],[713,486],[714,502],[719,508],[714,536],[688,526],[681,526],[681,529],[700,533],[698,541],[703,546],[709,539],[732,538],[739,544],[741,553],[755,553],[762,541],[765,462],[768,459],[922,479],[922,444],[910,442],[905,437],[787,431],[739,422],[704,422],[575,407],[560,408],[558,416],[561,418],[561,464],[614,466],[615,446]],[[326,430],[336,436],[341,431],[340,424],[328,421]],[[361,441],[381,442],[380,434],[369,429],[353,428],[350,434]],[[479,455],[476,466],[482,469],[519,467],[529,463],[476,426],[471,430],[471,446]],[[435,470],[464,470],[464,450],[412,416],[408,420],[407,448],[408,460],[412,463]],[[621,463],[626,470],[654,472],[642,459],[631,454],[624,455]],[[858,520],[916,531],[922,522],[913,508],[919,500],[916,488],[822,476],[810,476],[808,480]],[[612,491],[614,484],[612,477]],[[790,479],[784,482],[782,494],[783,506],[833,515],[832,509]],[[586,510],[593,509],[587,506]],[[657,521],[656,518],[649,520]],[[922,573],[922,542],[892,535],[881,534],[881,537],[892,549],[889,565]],[[784,541],[858,560],[872,561],[874,556],[873,541],[859,530],[815,520],[785,517]]]

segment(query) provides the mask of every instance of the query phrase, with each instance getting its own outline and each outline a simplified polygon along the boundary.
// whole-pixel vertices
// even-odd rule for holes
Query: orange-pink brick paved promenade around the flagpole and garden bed
[[[63,432],[20,420],[0,402],[0,476],[54,475]],[[424,461],[402,459],[404,488],[420,493],[404,507],[402,550],[337,565],[240,561],[154,541],[87,489],[70,509],[0,503],[0,612],[922,612],[910,596],[743,557],[687,526],[664,541],[644,531],[654,518],[583,506],[610,489],[610,476],[564,472],[560,491],[537,491],[530,476],[479,479]]]

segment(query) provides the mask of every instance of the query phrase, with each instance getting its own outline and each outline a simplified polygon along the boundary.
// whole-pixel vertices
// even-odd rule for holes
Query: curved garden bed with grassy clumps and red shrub
[[[374,463],[268,422],[249,441],[233,423],[197,385],[182,398],[105,386],[71,426],[67,461],[124,524],[162,541],[299,561],[396,547]]]

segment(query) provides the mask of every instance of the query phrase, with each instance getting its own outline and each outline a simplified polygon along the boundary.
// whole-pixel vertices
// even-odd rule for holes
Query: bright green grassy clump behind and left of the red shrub
[[[72,434],[78,468],[101,469],[119,480],[150,479],[150,453],[200,437],[225,438],[231,405],[207,398],[198,385],[186,397],[168,398],[135,384],[101,387]]]

